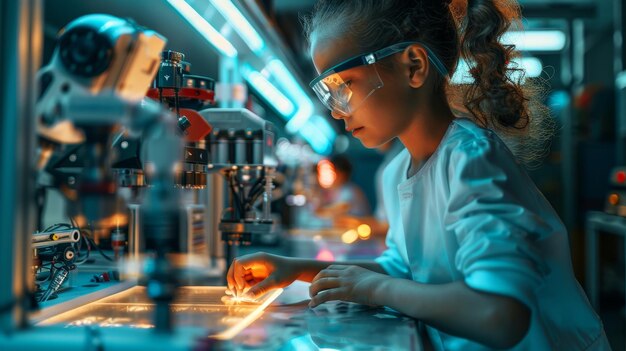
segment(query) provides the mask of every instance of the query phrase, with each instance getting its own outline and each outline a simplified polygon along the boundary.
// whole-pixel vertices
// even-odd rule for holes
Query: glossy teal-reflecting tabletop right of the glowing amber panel
[[[417,322],[386,308],[346,302],[308,307],[308,284],[287,287],[232,340],[233,350],[421,350]]]

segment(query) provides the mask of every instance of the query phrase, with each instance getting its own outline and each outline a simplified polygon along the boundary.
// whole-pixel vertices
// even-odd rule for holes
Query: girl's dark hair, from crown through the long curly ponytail
[[[516,0],[320,0],[303,18],[308,38],[346,35],[361,52],[402,41],[420,41],[454,72],[460,59],[470,67],[471,84],[452,85],[439,76],[436,91],[446,94],[455,114],[494,130],[527,167],[540,163],[555,122],[542,104],[544,81],[525,79],[513,45],[500,42],[512,27],[521,29]]]

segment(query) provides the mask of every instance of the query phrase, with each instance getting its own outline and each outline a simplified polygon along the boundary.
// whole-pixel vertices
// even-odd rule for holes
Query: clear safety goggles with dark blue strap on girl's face
[[[448,70],[441,60],[426,45],[417,42],[402,42],[386,48],[349,58],[322,72],[309,86],[322,104],[329,110],[342,115],[350,115],[356,111],[365,100],[376,90],[384,86],[376,62],[393,54],[404,51],[413,44],[419,44],[426,49],[428,60],[435,66],[442,76],[448,77]],[[352,68],[359,68],[358,72]]]

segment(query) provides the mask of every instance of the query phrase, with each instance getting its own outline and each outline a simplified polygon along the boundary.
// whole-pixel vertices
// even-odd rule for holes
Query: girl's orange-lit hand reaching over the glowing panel
[[[300,271],[289,257],[259,252],[235,258],[226,280],[232,295],[256,299],[272,289],[293,283]]]

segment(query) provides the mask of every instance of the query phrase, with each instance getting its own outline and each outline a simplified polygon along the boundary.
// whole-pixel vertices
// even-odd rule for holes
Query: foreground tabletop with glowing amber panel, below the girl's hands
[[[179,289],[172,305],[176,328],[206,335],[209,348],[223,350],[422,349],[417,322],[411,318],[386,308],[346,302],[310,309],[306,283],[296,282],[282,293],[274,291],[258,303],[225,302],[223,292],[224,287]],[[152,327],[153,310],[145,288],[133,287],[40,325],[144,329]]]

